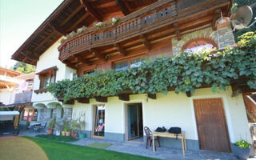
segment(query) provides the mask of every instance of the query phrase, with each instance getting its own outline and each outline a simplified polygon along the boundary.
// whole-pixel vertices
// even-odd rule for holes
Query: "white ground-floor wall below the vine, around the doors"
[[[158,126],[166,126],[166,128],[180,126],[186,132],[187,139],[198,140],[193,99],[222,98],[230,142],[236,142],[242,138],[251,142],[242,95],[232,98],[231,93],[230,87],[225,92],[216,94],[212,93],[210,88],[198,89],[192,97],[188,98],[186,94],[175,94],[172,91],[167,95],[157,94],[156,100],[148,98],[148,102],[146,102],[146,94],[136,94],[130,95],[130,102],[142,102],[143,126],[149,126],[151,130],[155,130]],[[118,97],[108,98],[108,102],[105,103],[106,132],[125,133],[125,106],[130,102],[122,102]],[[97,103],[94,99],[90,99],[90,104],[76,102],[73,106],[73,112],[86,111],[86,130],[92,128],[92,107]],[[74,114],[73,118],[75,117]]]

